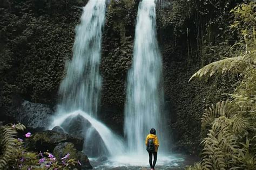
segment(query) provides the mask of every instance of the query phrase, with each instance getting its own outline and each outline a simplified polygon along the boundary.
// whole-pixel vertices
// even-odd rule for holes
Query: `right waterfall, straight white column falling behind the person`
[[[145,137],[151,128],[161,137],[160,104],[163,96],[161,55],[156,37],[155,0],[141,1],[133,49],[132,68],[127,77],[124,132],[129,151],[145,153]],[[160,146],[163,148],[163,146]]]

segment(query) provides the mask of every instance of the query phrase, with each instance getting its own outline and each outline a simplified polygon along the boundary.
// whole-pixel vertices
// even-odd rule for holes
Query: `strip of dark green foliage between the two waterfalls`
[[[138,3],[111,1],[106,13],[100,73],[103,76],[104,105],[124,108],[125,81],[131,66]]]

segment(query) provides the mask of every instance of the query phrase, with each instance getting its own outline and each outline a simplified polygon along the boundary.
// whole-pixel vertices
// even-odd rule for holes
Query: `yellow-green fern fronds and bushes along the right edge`
[[[242,5],[242,9],[248,9],[252,4],[246,5]],[[237,10],[235,8],[234,12],[239,13]],[[240,12],[241,19],[244,19],[243,12]],[[244,30],[242,33],[245,40],[240,45],[244,45],[242,49],[245,50],[240,51],[240,56],[210,63],[191,77],[209,77],[228,72],[237,74],[238,79],[235,82],[237,88],[230,95],[232,100],[218,102],[206,109],[201,120],[202,131],[210,130],[202,141],[202,161],[188,169],[256,168],[256,38],[254,28],[251,32]]]

